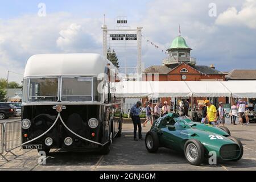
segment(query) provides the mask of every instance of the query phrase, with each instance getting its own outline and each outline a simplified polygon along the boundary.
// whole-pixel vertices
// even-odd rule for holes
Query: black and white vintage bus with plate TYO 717
[[[117,69],[92,53],[34,55],[24,71],[22,148],[108,154],[122,131]]]

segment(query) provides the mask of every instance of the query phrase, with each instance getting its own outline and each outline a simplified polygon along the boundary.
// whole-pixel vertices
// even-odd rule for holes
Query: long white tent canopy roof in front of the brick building
[[[121,97],[256,97],[256,81],[125,81],[115,88]]]

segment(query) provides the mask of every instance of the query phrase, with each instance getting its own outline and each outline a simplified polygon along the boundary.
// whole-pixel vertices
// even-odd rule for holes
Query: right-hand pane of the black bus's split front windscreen
[[[92,101],[92,78],[62,78],[61,101]]]

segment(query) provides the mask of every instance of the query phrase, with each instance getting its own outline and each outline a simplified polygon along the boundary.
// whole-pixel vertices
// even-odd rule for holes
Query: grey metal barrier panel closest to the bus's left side
[[[5,123],[5,151],[10,152],[22,144],[21,121]]]

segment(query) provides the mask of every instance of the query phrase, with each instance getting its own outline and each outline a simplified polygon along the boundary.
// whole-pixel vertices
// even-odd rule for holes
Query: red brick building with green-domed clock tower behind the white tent
[[[191,50],[185,39],[177,36],[171,46],[167,49],[168,58],[164,59],[162,65],[152,65],[146,68],[142,75],[143,81],[225,81],[226,73],[220,72],[206,65],[197,65],[196,59],[191,57]],[[180,98],[180,100],[191,98]],[[193,103],[207,98],[195,98]],[[217,102],[228,102],[228,98],[209,98],[216,104]],[[168,101],[171,104],[173,99],[162,98],[161,101]],[[190,101],[191,103],[191,101]]]

